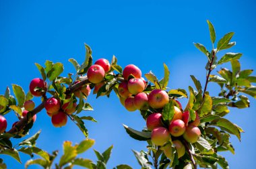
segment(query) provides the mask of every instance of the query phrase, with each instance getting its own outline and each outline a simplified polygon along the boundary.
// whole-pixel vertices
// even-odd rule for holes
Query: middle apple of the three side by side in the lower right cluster
[[[185,123],[181,119],[172,121],[169,125],[170,134],[174,137],[179,137],[183,135],[186,130]]]

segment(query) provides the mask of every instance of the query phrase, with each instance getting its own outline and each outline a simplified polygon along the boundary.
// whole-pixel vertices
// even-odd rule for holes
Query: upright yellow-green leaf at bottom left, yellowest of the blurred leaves
[[[61,160],[59,161],[59,166],[64,166],[71,160],[74,160],[77,156],[77,150],[72,146],[72,143],[69,141],[65,141],[63,144],[63,156],[61,156]]]

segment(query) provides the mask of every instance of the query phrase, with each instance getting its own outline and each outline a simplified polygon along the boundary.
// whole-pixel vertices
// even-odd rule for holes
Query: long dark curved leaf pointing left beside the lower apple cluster
[[[139,141],[146,141],[151,138],[151,132],[144,132],[144,131],[137,131],[135,129],[132,129],[131,127],[128,127],[127,125],[123,124],[123,127],[125,127],[126,132],[133,137],[134,139],[137,139]]]

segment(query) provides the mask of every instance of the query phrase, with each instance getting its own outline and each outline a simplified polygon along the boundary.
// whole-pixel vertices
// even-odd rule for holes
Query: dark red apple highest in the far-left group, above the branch
[[[46,91],[47,91],[47,84],[41,78],[34,78],[30,82],[30,93],[35,97],[40,97],[44,95]]]

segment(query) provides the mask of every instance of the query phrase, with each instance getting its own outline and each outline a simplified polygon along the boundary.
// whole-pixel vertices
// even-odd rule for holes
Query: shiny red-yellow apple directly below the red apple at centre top
[[[143,80],[141,80],[140,78],[131,78],[128,81],[127,87],[128,87],[128,91],[131,94],[136,95],[137,93],[141,93],[144,91],[145,84]]]

